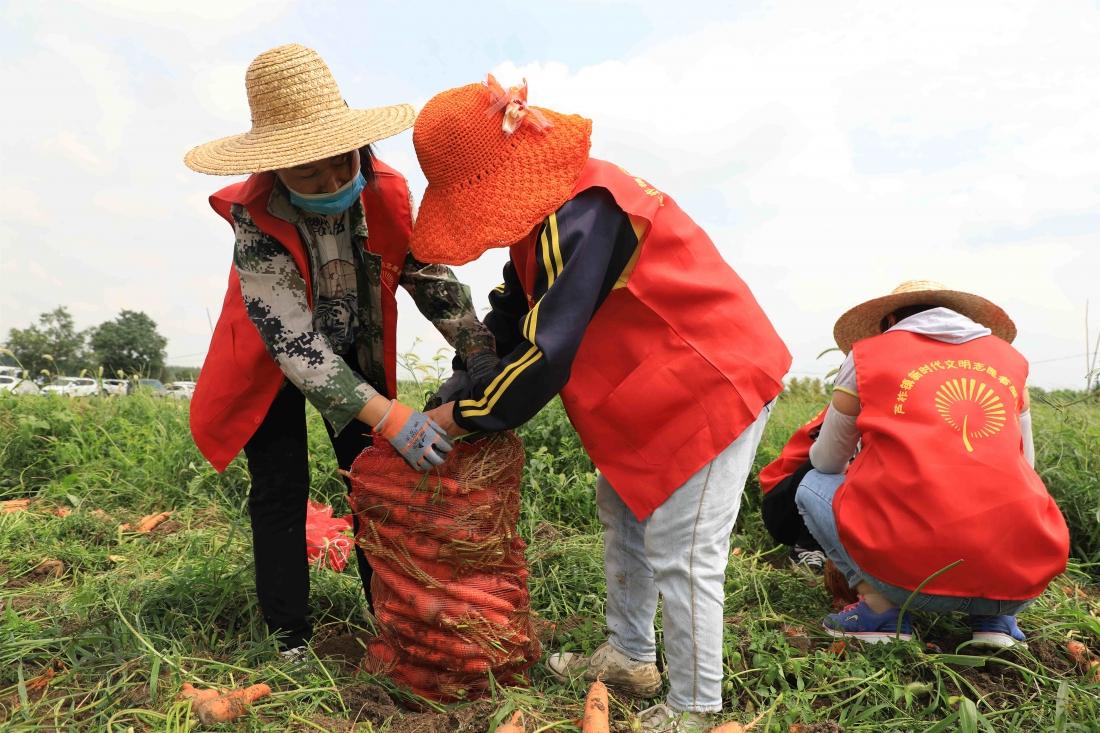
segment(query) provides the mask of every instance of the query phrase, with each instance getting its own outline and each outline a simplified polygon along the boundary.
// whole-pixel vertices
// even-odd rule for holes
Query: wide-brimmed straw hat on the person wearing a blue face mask
[[[411,105],[349,108],[320,55],[296,43],[256,56],[244,86],[252,129],[193,149],[189,168],[219,176],[288,168],[395,135],[416,119]]]

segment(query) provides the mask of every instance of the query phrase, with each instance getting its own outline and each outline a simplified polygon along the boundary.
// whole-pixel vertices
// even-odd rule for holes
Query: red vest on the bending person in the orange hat
[[[593,462],[644,519],[779,394],[791,355],[675,201],[590,158],[572,196],[597,186],[630,216],[640,253],[588,324],[561,397]],[[532,238],[512,261],[530,302]]]

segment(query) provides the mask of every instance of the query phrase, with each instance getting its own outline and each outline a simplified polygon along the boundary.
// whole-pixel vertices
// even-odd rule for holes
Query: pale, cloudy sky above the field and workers
[[[186,6],[186,7],[185,7]],[[1078,386],[1100,326],[1100,8],[1033,2],[0,2],[0,337],[58,304],[148,313],[200,363],[232,236],[183,154],[248,129],[244,69],[298,42],[353,107],[527,77],[702,223],[795,355],[902,280],[1016,320]],[[419,197],[409,133],[380,145]],[[460,269],[480,307],[503,251]],[[400,346],[442,346],[402,300]]]

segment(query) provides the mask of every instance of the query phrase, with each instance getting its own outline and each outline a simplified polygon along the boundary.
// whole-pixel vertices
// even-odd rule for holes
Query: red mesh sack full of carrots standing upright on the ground
[[[538,660],[526,545],[516,530],[524,444],[513,433],[460,441],[430,473],[385,440],[351,467],[355,541],[374,568],[380,633],[364,667],[450,702],[524,683]]]

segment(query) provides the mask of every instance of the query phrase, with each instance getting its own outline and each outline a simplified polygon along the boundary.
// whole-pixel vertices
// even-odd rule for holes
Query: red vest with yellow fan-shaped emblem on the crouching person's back
[[[851,558],[906,589],[1037,597],[1069,533],[1023,453],[1027,362],[994,337],[952,344],[890,331],[853,347],[862,449],[833,500]]]

